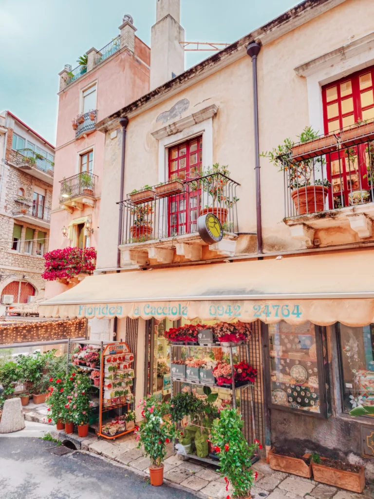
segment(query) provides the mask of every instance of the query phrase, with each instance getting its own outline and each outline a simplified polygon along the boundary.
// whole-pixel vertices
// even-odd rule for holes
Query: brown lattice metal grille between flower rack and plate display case
[[[244,419],[243,433],[249,443],[256,438],[265,445],[265,421],[264,421],[264,398],[262,389],[262,355],[261,355],[261,333],[258,322],[253,322],[253,333],[248,341],[249,359],[246,358],[245,346],[239,347],[240,360],[246,361],[257,369],[257,379],[253,387],[253,409],[254,421],[251,418],[251,391],[249,388],[240,390],[240,408]],[[238,392],[237,392],[238,393]],[[254,423],[254,424],[253,424]],[[253,435],[253,426],[255,436]]]

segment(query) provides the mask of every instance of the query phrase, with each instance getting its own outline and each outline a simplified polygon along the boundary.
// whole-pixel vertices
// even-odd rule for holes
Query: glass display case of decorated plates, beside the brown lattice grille
[[[264,324],[268,406],[331,415],[326,328],[311,322]]]

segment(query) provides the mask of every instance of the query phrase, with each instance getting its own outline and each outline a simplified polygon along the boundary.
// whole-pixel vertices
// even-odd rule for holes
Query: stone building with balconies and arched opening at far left
[[[44,296],[54,146],[10,111],[0,113],[0,293],[4,313]]]

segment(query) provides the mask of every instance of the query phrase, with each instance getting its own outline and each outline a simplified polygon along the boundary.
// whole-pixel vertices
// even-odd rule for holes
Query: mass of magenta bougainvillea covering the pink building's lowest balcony
[[[45,253],[45,280],[66,279],[95,269],[95,248],[64,248]]]

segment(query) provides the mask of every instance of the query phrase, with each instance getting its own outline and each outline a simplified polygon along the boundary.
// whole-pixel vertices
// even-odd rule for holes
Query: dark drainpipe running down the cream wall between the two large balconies
[[[260,187],[260,151],[258,139],[258,97],[257,97],[257,55],[261,49],[260,43],[252,41],[247,46],[247,54],[252,58],[253,76],[253,124],[254,124],[254,154],[256,172],[256,220],[257,220],[257,252],[262,254],[262,223],[261,223],[261,187]]]

